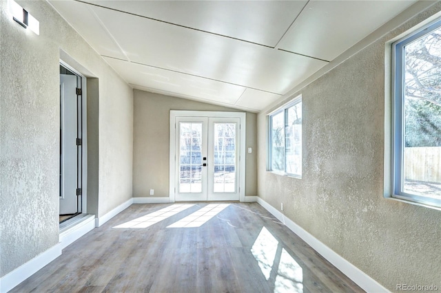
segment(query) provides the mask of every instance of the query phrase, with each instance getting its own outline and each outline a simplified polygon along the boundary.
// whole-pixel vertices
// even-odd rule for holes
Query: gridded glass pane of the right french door
[[[236,123],[214,123],[213,191],[236,192]]]

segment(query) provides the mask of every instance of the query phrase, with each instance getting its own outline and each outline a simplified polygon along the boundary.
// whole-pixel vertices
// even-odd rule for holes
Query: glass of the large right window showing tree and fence
[[[441,199],[441,29],[404,47],[404,193]]]

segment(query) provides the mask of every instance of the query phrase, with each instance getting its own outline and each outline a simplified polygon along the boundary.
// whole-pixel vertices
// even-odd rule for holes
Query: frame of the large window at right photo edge
[[[423,195],[416,195],[404,193],[403,182],[403,161],[404,161],[404,133],[402,124],[404,123],[404,46],[419,39],[421,36],[441,28],[441,19],[432,21],[421,28],[413,30],[413,32],[406,34],[404,37],[392,43],[392,67],[391,67],[391,195],[390,197],[398,199],[409,204],[417,204],[419,206],[426,206],[429,208],[441,209],[441,200],[433,199],[432,197],[424,197]]]

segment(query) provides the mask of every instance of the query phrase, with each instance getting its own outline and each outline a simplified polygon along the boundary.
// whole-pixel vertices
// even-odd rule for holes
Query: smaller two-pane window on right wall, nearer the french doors
[[[269,114],[269,171],[302,176],[302,97]]]

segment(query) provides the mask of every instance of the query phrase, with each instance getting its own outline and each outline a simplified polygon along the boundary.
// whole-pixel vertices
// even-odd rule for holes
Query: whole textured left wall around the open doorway
[[[60,50],[100,80],[99,213],[132,196],[132,90],[46,1],[19,3],[40,35],[0,1],[0,276],[59,241]]]

